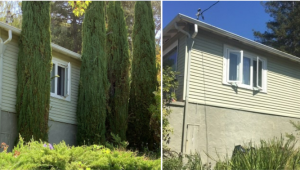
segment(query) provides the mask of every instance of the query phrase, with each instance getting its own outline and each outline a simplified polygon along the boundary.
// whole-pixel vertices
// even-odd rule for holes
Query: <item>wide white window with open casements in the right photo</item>
[[[225,45],[223,84],[267,92],[267,60]]]

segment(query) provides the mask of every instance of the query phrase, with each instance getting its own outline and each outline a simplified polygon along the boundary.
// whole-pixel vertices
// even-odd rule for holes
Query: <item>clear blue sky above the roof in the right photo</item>
[[[198,8],[205,10],[216,1],[163,1],[163,27],[178,13],[196,19]],[[266,22],[272,18],[265,12],[260,1],[220,1],[203,13],[200,21],[222,28],[242,37],[254,40],[253,29],[266,31]]]

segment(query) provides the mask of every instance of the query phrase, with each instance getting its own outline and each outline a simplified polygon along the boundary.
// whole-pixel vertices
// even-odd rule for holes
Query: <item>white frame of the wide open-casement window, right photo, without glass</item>
[[[238,81],[229,81],[229,52],[230,51],[240,51],[242,54],[241,57],[241,67],[240,67],[240,80]],[[243,58],[247,57],[251,59],[251,66],[250,66],[250,85],[247,84],[243,84]],[[262,65],[262,87],[258,87],[258,81],[256,81],[257,83],[257,87],[253,87],[253,61],[256,60],[261,60],[263,62]],[[257,69],[258,69],[258,62],[257,62]],[[229,85],[229,86],[237,86],[238,88],[243,88],[243,89],[248,89],[248,90],[253,90],[253,91],[259,91],[259,92],[263,92],[263,93],[267,93],[267,59],[264,57],[261,57],[259,55],[244,51],[242,49],[238,49],[229,45],[224,45],[224,49],[223,49],[223,84],[224,85]],[[258,72],[257,74],[257,78],[258,78]]]

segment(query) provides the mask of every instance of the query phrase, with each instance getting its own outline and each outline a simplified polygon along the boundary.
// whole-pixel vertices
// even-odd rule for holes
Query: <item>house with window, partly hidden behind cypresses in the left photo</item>
[[[21,30],[0,22],[0,142],[10,146],[18,136],[15,105],[20,34]],[[60,77],[51,82],[48,138],[50,143],[64,140],[75,145],[81,55],[54,43],[51,46],[54,69],[49,76]]]

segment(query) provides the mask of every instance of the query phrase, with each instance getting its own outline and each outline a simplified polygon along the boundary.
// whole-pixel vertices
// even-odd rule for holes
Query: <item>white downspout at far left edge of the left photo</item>
[[[10,42],[12,39],[12,32],[8,30],[8,39],[3,42],[2,38],[0,38],[0,133],[1,131],[1,112],[2,112],[2,80],[3,80],[3,55],[6,49],[5,44]]]

